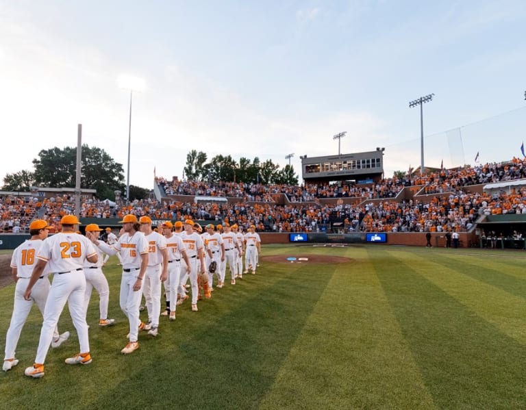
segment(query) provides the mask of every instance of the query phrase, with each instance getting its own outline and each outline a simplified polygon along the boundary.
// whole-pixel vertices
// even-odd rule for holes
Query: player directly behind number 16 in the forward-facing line
[[[168,251],[166,251],[166,238],[151,229],[151,218],[141,216],[139,219],[140,230],[145,234],[148,242],[148,268],[142,294],[145,295],[148,311],[148,323],[145,330],[149,335],[157,336],[159,316],[161,314],[161,283],[166,281],[168,275]]]

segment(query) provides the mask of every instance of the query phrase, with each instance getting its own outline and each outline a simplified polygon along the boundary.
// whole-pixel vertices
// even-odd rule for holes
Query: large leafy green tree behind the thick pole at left
[[[36,185],[51,188],[71,188],[77,178],[77,148],[66,146],[42,150],[33,159]],[[124,170],[103,149],[83,144],[81,188],[97,190],[99,198],[114,198],[114,190],[123,190]]]

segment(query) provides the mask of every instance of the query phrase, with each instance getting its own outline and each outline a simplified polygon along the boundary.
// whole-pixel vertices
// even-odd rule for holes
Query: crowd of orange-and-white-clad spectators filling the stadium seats
[[[255,225],[259,231],[320,231],[331,222],[342,221],[346,232],[442,232],[469,231],[481,215],[526,214],[526,188],[502,190],[493,194],[471,193],[469,185],[511,181],[525,178],[526,168],[514,158],[506,164],[484,164],[455,170],[435,170],[425,175],[392,177],[368,185],[312,184],[262,185],[236,182],[205,183],[201,181],[171,182],[158,178],[166,195],[227,196],[236,203],[194,203],[193,200],[162,201],[146,199],[128,204],[90,199],[82,202],[81,218],[122,218],[125,214],[148,215],[155,220],[216,220],[242,227]],[[406,186],[418,186],[425,199],[397,201],[397,194]],[[421,188],[420,188],[421,187]],[[449,193],[449,195],[444,195]],[[276,198],[285,194],[286,205]],[[438,194],[441,194],[440,196]],[[358,205],[338,203],[323,205],[321,198],[358,198]],[[422,197],[421,197],[422,198]],[[193,199],[193,198],[192,198]],[[373,199],[385,201],[371,202]],[[342,201],[340,201],[342,202]],[[0,231],[27,231],[34,214],[58,229],[64,214],[74,212],[74,201],[68,196],[54,198],[0,198]]]

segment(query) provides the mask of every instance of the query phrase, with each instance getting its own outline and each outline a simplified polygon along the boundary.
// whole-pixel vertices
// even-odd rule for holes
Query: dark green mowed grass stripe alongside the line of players
[[[136,368],[132,380],[122,380],[110,392],[114,400],[151,407],[148,396],[136,402],[127,394],[140,389],[146,379],[156,396],[188,409],[257,408],[329,280],[323,275],[303,276],[300,264],[266,265],[258,270],[261,274],[214,292],[210,309],[200,304],[199,313],[185,322],[170,357],[159,353],[151,369]],[[252,289],[240,295],[249,286]],[[216,298],[218,292],[221,299]],[[166,383],[166,376],[171,383]],[[108,398],[95,402],[95,408],[103,408]]]

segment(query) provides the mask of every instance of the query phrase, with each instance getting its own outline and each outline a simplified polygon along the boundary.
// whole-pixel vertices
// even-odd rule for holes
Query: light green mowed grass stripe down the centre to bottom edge
[[[434,408],[366,251],[345,255],[261,408]]]

